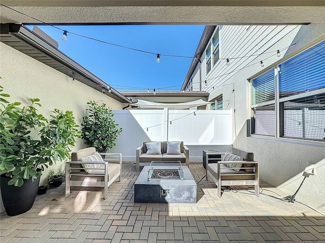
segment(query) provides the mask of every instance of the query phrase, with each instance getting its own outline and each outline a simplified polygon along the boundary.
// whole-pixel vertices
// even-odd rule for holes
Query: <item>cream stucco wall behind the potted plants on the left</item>
[[[123,104],[102,94],[57,70],[31,58],[15,49],[0,43],[0,85],[10,94],[9,101],[28,104],[30,98],[39,98],[42,107],[40,113],[50,118],[54,108],[74,113],[81,129],[82,116],[87,114],[87,102],[90,100],[105,102],[112,109],[122,109]],[[81,139],[73,150],[85,147]],[[62,170],[63,163],[53,166],[55,171]],[[41,183],[48,170],[43,173]],[[1,201],[0,211],[4,211]]]

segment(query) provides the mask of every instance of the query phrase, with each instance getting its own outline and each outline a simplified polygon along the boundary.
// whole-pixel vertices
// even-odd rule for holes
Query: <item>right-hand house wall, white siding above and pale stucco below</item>
[[[303,140],[286,140],[250,136],[247,134],[247,120],[251,117],[250,83],[247,78],[272,65],[279,58],[268,52],[281,50],[285,57],[301,49],[315,39],[325,39],[325,26],[309,24],[303,26],[221,26],[219,35],[220,58],[233,56],[249,56],[253,52],[265,53],[230,60],[220,60],[215,68],[206,75],[205,61],[202,61],[202,91],[210,93],[209,101],[219,95],[223,97],[223,109],[234,109],[233,146],[254,152],[259,162],[260,178],[278,188],[286,195],[292,195],[303,180],[302,173],[314,165],[316,174],[310,176],[300,188],[296,196],[298,201],[325,212],[323,195],[325,195],[325,144]],[[294,45],[293,45],[294,44]],[[251,49],[252,47],[252,49]],[[273,56],[272,56],[273,55]],[[202,56],[204,58],[204,55]],[[269,58],[268,58],[269,57]],[[266,59],[267,58],[267,59]],[[259,63],[263,60],[265,67]],[[243,68],[244,66],[247,68]],[[198,88],[198,84],[196,88]],[[196,90],[196,89],[193,89]],[[234,90],[234,92],[233,92]],[[208,107],[209,108],[209,107]],[[282,195],[282,196],[286,196]]]

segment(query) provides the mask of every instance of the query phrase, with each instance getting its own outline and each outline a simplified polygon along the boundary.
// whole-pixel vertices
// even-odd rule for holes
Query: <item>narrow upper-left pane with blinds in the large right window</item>
[[[275,99],[274,70],[258,76],[252,80],[253,105]]]

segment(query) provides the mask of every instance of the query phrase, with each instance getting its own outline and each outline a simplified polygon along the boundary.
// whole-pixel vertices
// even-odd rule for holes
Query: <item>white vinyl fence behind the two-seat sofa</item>
[[[136,160],[144,141],[184,141],[190,161],[202,161],[202,149],[229,150],[232,144],[232,110],[113,110],[123,129],[111,152],[123,161]]]

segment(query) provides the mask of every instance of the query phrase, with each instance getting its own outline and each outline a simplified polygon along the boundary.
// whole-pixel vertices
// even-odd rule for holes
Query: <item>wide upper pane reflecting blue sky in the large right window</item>
[[[280,98],[325,88],[325,41],[280,66]]]

